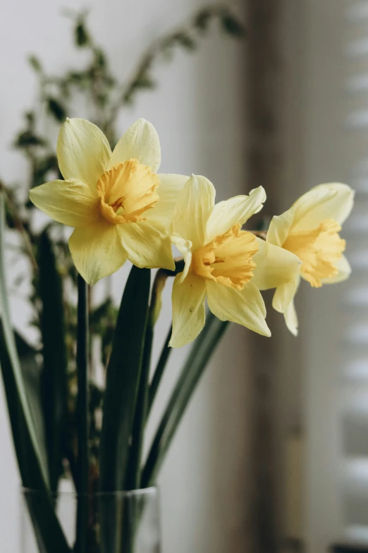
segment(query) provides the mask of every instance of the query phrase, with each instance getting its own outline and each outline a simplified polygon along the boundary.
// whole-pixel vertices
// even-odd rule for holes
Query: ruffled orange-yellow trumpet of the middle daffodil
[[[252,256],[258,251],[257,239],[251,232],[234,225],[228,232],[195,251],[190,269],[196,275],[215,280],[224,286],[243,290],[253,276]]]

